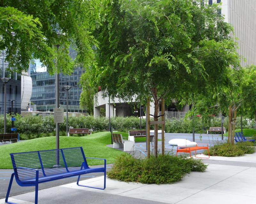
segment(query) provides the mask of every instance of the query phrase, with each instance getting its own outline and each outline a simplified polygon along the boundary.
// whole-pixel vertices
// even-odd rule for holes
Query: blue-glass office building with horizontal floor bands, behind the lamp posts
[[[68,112],[82,112],[79,108],[79,99],[82,89],[78,86],[82,68],[76,68],[71,75],[60,73],[60,108],[66,112],[67,91],[65,85],[72,86],[68,91]],[[46,67],[42,67],[39,60],[30,64],[30,76],[32,78],[31,102],[36,104],[37,111],[53,112],[55,108],[55,76],[49,75]]]

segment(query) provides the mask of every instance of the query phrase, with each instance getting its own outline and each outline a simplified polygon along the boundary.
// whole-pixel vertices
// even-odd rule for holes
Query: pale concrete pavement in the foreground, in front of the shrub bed
[[[256,153],[232,158],[211,157],[204,162],[209,163],[205,172],[191,172],[174,184],[126,183],[107,179],[106,189],[98,190],[71,183],[40,190],[38,203],[240,204],[256,202],[256,167],[252,167],[256,163]],[[214,162],[221,162],[221,164],[213,164]],[[81,184],[102,186],[103,176],[81,181]],[[34,192],[24,193],[13,196],[10,201],[30,204],[34,202],[34,196]],[[0,204],[3,203],[4,199],[1,199]]]

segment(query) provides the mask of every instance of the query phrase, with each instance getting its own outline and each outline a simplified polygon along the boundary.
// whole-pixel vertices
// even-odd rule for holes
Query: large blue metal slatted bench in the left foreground
[[[35,204],[37,204],[38,199],[38,184],[48,181],[78,176],[77,185],[84,186],[79,184],[80,175],[104,172],[103,188],[84,187],[106,188],[106,159],[102,159],[104,160],[104,167],[90,168],[86,159],[100,158],[85,157],[82,147],[12,153],[10,155],[14,172],[6,193],[6,203],[15,204],[8,202],[14,176],[20,186],[35,186]]]

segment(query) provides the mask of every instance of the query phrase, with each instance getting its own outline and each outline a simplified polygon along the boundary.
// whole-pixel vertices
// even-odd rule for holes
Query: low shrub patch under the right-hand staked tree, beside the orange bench
[[[244,154],[253,154],[255,147],[252,142],[237,142],[236,144],[222,143],[209,148],[210,156],[238,157]],[[208,155],[207,151],[204,151]]]

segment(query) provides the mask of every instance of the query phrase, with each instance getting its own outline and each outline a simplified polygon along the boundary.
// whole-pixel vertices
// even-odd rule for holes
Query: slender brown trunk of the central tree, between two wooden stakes
[[[152,89],[152,93],[154,94],[153,95],[153,98],[154,98],[154,104],[155,104],[155,111],[154,111],[154,116],[158,116],[158,111],[159,111],[159,102],[157,100],[157,88],[153,88]],[[154,121],[158,121],[158,118],[157,117],[154,117]],[[154,125],[154,149],[153,149],[153,155],[155,157],[157,157],[157,142],[158,142],[158,125]]]

